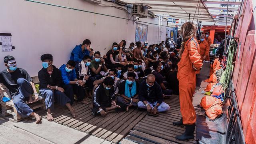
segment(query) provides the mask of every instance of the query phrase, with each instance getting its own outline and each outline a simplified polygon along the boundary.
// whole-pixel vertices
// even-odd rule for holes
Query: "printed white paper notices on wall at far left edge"
[[[0,33],[0,48],[2,52],[11,52],[14,49],[14,46],[12,46],[12,34]]]

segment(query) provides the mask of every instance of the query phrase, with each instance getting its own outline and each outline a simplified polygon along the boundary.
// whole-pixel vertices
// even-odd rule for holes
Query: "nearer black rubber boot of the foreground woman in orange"
[[[176,140],[180,140],[180,141],[194,140],[194,130],[195,130],[196,124],[185,125],[185,126],[186,126],[185,133],[180,136],[175,136]]]

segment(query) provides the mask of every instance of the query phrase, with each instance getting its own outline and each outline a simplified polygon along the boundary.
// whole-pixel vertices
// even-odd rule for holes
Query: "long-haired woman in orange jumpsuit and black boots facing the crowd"
[[[177,140],[187,141],[194,139],[196,126],[196,112],[192,104],[193,94],[196,88],[196,70],[202,67],[200,59],[199,44],[194,38],[196,27],[192,22],[186,22],[181,27],[183,38],[180,47],[180,62],[178,63],[179,90],[180,90],[180,112],[182,118],[179,122],[173,122],[175,126],[186,126],[184,134],[176,136]]]

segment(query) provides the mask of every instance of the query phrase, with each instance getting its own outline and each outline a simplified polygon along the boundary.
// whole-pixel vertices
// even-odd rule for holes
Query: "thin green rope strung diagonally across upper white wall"
[[[111,16],[111,15],[108,15],[108,14],[100,14],[100,13],[97,13],[97,12],[90,12],[90,11],[87,11],[87,10],[80,10],[80,9],[76,9],[76,8],[66,7],[66,6],[49,4],[49,3],[45,3],[45,2],[39,2],[39,1],[36,1],[36,0],[25,0],[25,1],[35,2],[35,3],[38,3],[38,4],[45,4],[45,5],[49,5],[49,6],[56,6],[56,7],[60,7],[60,8],[67,8],[67,9],[70,9],[70,10],[78,10],[78,11],[81,11],[81,12],[88,12],[88,13],[92,13],[92,14],[99,14],[99,15],[102,15],[102,16],[109,16],[109,17],[113,17],[113,18],[120,18],[120,19],[123,19],[123,20],[129,20],[128,18],[121,18],[121,17],[118,17],[118,16]],[[137,20],[131,20],[131,21],[142,22],[142,21],[137,21]],[[142,22],[142,23],[153,24],[153,23],[150,23],[150,22]],[[164,25],[159,25],[159,24],[153,24],[153,25],[164,26]],[[170,26],[164,26],[164,27],[170,28]]]

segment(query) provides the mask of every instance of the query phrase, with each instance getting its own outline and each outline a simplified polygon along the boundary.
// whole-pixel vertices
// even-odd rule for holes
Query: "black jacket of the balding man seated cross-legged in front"
[[[154,86],[148,87],[146,80],[142,81],[139,86],[139,98],[143,102],[158,102],[161,104],[164,100],[163,92],[160,85],[155,81]]]

